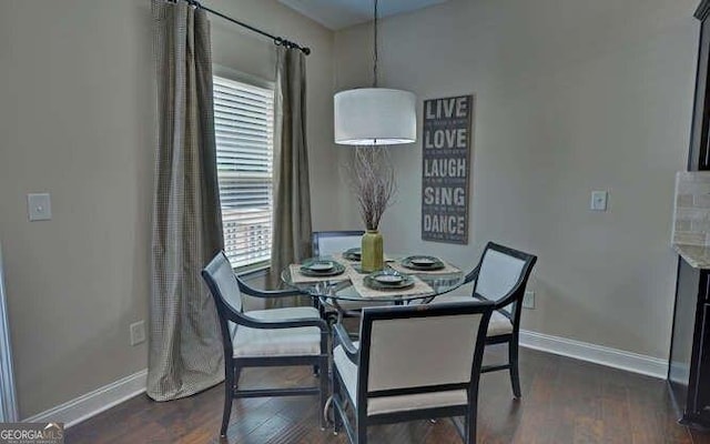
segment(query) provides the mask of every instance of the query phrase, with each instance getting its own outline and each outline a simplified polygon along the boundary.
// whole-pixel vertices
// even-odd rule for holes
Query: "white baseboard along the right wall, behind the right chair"
[[[666,360],[549,334],[520,330],[520,345],[661,380],[665,380],[668,374],[668,361]]]

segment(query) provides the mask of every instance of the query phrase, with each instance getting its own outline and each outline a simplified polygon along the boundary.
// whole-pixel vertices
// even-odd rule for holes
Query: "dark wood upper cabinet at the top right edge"
[[[698,74],[696,77],[696,97],[692,113],[692,132],[690,137],[690,155],[688,170],[710,170],[710,88],[708,88],[708,70],[710,69],[710,0],[703,0],[696,11],[701,21],[700,48],[698,52]]]

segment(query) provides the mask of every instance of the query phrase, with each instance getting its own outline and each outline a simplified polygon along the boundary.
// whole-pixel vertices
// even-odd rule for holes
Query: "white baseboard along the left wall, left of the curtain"
[[[148,370],[142,370],[22,421],[64,423],[64,427],[71,427],[145,392],[146,381]]]

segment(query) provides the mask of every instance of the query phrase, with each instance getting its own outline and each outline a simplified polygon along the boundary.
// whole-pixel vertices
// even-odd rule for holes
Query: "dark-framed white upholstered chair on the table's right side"
[[[520,397],[520,372],[518,369],[518,342],[523,297],[537,256],[488,242],[478,265],[466,275],[466,283],[474,283],[473,297],[494,301],[486,345],[508,344],[508,363],[484,365],[481,373],[508,370],[515,397]],[[470,301],[471,296],[444,294],[434,303]]]

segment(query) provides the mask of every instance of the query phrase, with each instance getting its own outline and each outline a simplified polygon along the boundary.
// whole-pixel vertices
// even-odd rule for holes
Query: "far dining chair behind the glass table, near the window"
[[[363,239],[364,231],[314,231],[311,235],[311,244],[313,254],[316,256],[328,256],[343,253],[346,250],[359,248]],[[354,289],[346,289],[344,291],[355,291]],[[334,322],[336,316],[333,303],[326,297],[314,299],[314,303],[317,303],[317,309],[321,312],[323,319]],[[368,304],[367,302],[355,302],[341,300],[337,302],[339,309],[343,311],[343,316],[352,317],[359,315],[359,310],[364,306],[374,306],[376,303]]]

